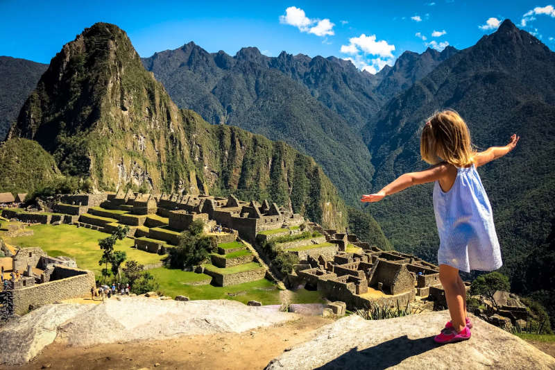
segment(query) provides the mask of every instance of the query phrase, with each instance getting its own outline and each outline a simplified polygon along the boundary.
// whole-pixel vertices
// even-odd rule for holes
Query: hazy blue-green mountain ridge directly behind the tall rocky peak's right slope
[[[354,203],[373,176],[368,149],[345,119],[307,86],[271,67],[274,60],[281,59],[263,56],[256,48],[231,57],[189,42],[143,63],[178,106],[195,110],[212,124],[236,125],[311,155],[343,198]]]

